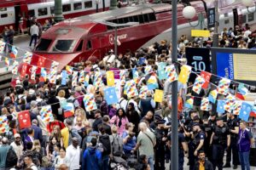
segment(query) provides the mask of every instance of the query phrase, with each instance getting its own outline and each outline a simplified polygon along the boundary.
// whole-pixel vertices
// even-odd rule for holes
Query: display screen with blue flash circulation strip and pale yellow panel
[[[256,85],[256,50],[211,48],[212,73],[236,82]]]

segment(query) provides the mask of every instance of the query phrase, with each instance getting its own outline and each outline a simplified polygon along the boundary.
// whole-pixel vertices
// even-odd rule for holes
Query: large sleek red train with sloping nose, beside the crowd
[[[202,13],[207,18],[204,3],[196,1],[191,2],[191,5],[195,7],[197,13]],[[207,3],[207,7],[211,7],[211,4]],[[236,8],[220,9],[224,12],[219,17],[218,31],[222,31],[224,27],[241,25],[249,21],[244,18],[249,19],[248,16],[251,15],[240,3],[236,4]],[[182,11],[183,4],[178,4],[178,36],[189,35],[192,29],[188,20],[183,18]],[[191,24],[195,25],[197,20],[195,17],[191,20]],[[87,59],[102,59],[104,54],[114,48],[115,33],[114,28],[104,22],[116,24],[136,22],[136,26],[117,27],[118,53],[125,53],[126,49],[135,51],[160,39],[171,40],[172,6],[166,3],[144,4],[62,21],[44,33],[33,51],[32,65],[38,64],[39,56],[45,57],[44,67],[48,69],[53,60],[59,62],[59,69],[62,69],[65,65],[74,65]],[[253,20],[249,22],[249,24],[253,23]]]

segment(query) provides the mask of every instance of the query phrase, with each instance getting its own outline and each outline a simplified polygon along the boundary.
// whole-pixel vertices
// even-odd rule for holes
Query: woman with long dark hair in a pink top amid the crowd
[[[128,123],[128,118],[125,114],[125,111],[122,108],[119,108],[116,111],[116,115],[113,116],[110,120],[110,123],[118,127],[119,135],[122,135],[125,131],[125,124]]]

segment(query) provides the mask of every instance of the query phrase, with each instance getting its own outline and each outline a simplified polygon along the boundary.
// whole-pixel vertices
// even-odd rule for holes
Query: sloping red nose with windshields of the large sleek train
[[[84,32],[84,29],[74,26],[53,26],[44,32],[34,49],[32,65],[49,69],[51,63],[56,61],[59,69],[62,69],[79,62],[83,53]]]

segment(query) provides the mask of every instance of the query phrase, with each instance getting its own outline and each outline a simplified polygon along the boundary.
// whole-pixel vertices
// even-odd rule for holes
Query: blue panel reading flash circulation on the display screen
[[[234,61],[231,53],[217,53],[217,75],[234,80]]]

